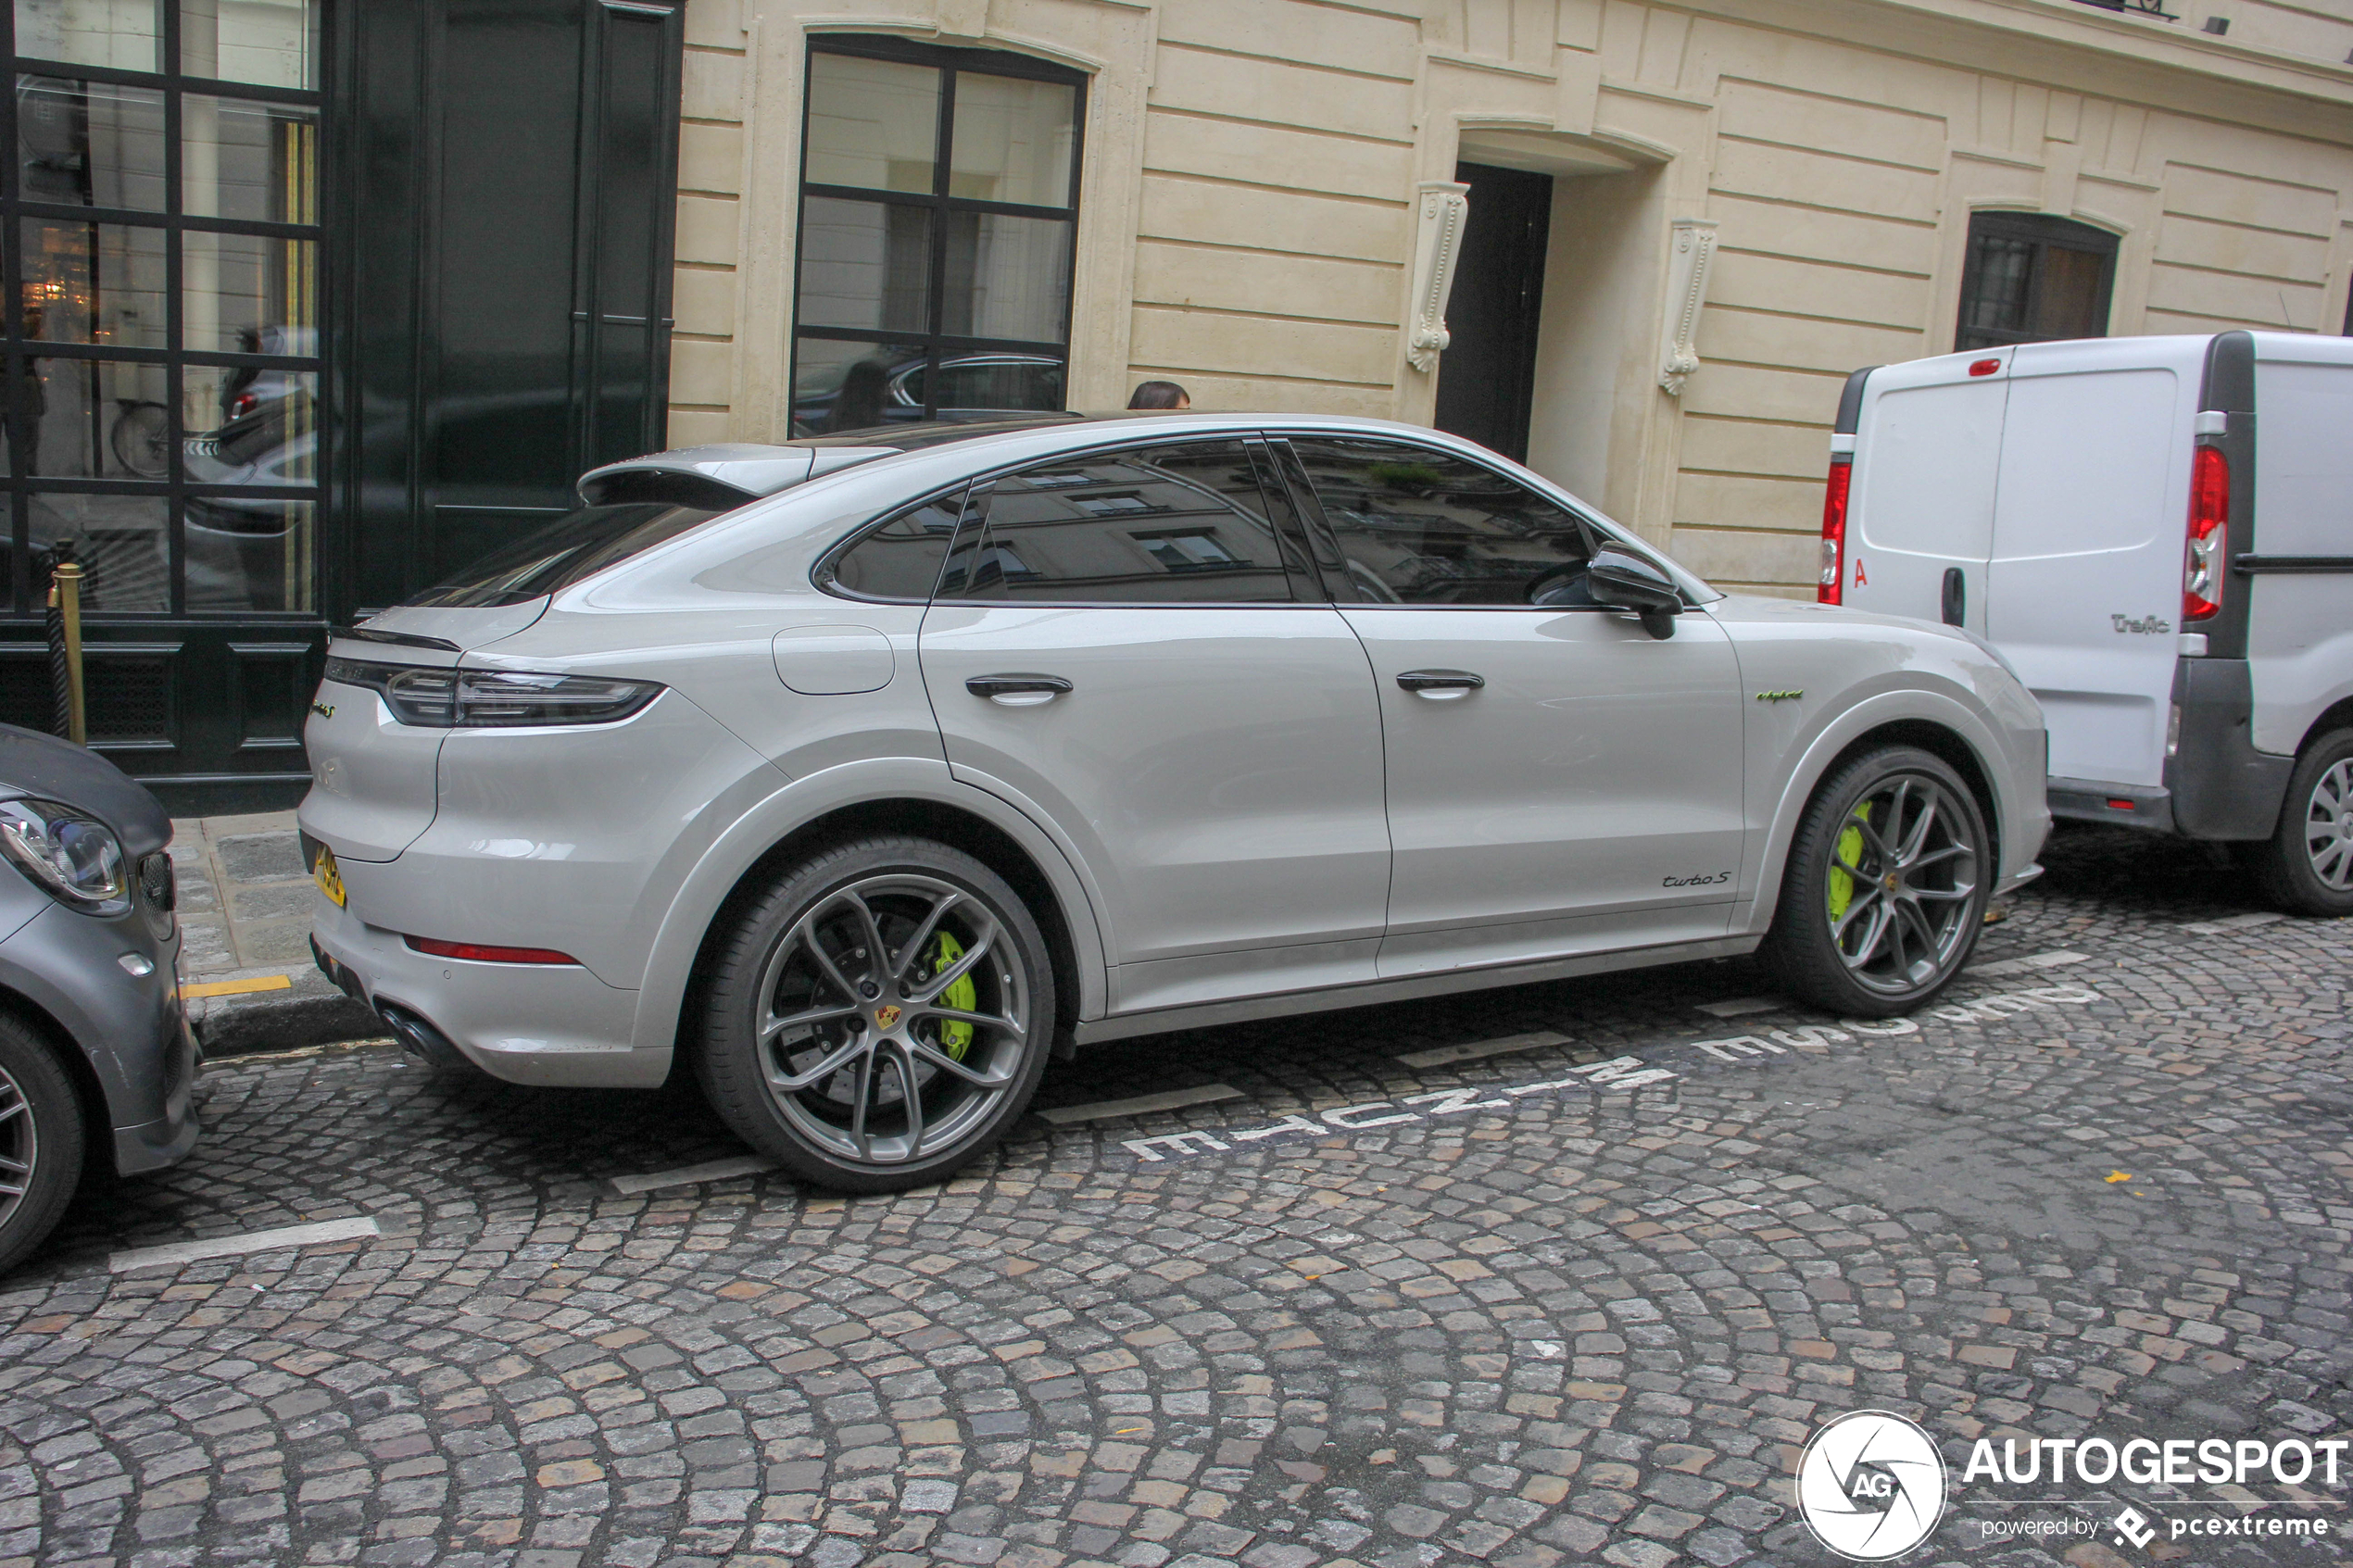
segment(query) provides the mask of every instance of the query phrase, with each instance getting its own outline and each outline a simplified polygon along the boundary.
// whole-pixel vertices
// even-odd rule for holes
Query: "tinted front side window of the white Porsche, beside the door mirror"
[[[1294,437],[1360,604],[1593,604],[1586,527],[1537,491],[1447,451]],[[1353,590],[1353,592],[1348,592]]]

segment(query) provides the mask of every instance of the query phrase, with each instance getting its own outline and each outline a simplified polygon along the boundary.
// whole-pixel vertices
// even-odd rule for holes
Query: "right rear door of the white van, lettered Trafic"
[[[2042,703],[2052,778],[2165,778],[2205,343],[2012,350],[1986,637]]]

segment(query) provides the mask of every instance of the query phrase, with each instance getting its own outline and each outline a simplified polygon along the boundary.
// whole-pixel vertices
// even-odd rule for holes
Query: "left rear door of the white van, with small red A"
[[[1842,604],[1986,630],[2009,353],[1887,364],[1864,381]]]

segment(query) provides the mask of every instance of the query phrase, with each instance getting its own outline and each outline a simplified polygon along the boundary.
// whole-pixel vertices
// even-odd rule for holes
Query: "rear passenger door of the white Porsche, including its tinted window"
[[[1094,879],[1113,1009],[1369,980],[1381,712],[1240,440],[1002,475],[922,621],[948,766]]]

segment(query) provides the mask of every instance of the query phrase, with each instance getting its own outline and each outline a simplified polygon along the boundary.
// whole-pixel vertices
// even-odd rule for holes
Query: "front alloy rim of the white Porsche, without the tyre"
[[[1831,849],[1831,945],[1866,990],[1908,994],[1955,961],[1977,917],[1969,813],[1927,773],[1889,773]]]

